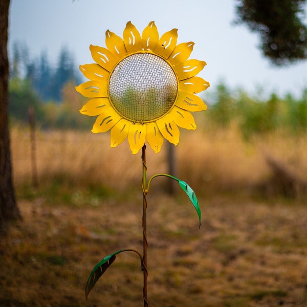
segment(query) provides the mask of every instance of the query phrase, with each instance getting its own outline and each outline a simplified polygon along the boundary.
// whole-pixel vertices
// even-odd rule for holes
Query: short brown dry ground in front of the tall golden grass
[[[121,253],[85,301],[93,267],[120,249],[143,251],[142,195],[54,203],[20,200],[23,221],[0,245],[0,305],[142,306],[140,258]],[[148,195],[148,303],[306,306],[307,214],[299,201]]]

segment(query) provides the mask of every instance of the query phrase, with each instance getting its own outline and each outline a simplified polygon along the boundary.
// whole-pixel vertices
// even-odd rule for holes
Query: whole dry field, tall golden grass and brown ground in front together
[[[37,131],[36,140],[33,188],[28,128],[12,129],[23,221],[0,240],[0,305],[143,305],[140,261],[129,252],[84,297],[104,256],[142,251],[140,153],[87,131]],[[166,148],[147,149],[147,178],[167,172]],[[202,226],[185,193],[168,195],[167,179],[152,182],[149,306],[306,306],[306,149],[307,137],[282,132],[248,143],[235,127],[182,133],[177,177],[198,195]]]

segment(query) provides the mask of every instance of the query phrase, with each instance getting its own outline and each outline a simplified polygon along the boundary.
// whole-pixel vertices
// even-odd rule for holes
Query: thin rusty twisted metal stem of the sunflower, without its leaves
[[[142,190],[143,190],[143,216],[142,216],[142,227],[143,227],[143,298],[144,298],[144,307],[148,307],[147,302],[147,218],[146,218],[146,209],[147,209],[147,187],[146,187],[146,145],[142,148],[142,164],[143,164],[143,178],[142,178]]]

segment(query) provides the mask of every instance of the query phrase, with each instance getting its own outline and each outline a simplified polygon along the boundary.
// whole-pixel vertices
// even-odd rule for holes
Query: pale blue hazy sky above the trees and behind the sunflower
[[[11,0],[9,46],[26,43],[32,57],[46,50],[53,63],[67,46],[76,65],[91,63],[89,46],[105,47],[107,29],[122,37],[127,21],[142,32],[153,20],[160,35],[177,28],[178,43],[195,42],[190,58],[207,62],[199,76],[211,89],[223,80],[251,94],[262,87],[264,93],[300,95],[307,87],[307,60],[273,67],[261,55],[258,35],[233,25],[235,5],[235,0]]]

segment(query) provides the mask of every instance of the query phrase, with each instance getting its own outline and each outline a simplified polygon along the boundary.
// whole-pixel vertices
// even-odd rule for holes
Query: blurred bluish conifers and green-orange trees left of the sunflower
[[[9,86],[9,115],[13,121],[28,123],[29,107],[42,128],[90,128],[90,119],[80,116],[84,99],[75,91],[81,82],[72,54],[62,48],[55,67],[46,52],[31,59],[27,46],[13,44]]]

